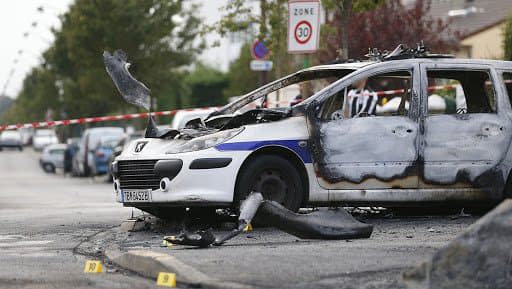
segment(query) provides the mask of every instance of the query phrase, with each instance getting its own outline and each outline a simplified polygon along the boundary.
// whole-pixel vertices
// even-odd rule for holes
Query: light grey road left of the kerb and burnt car
[[[0,288],[155,288],[108,266],[85,274],[82,241],[119,225],[131,209],[101,180],[45,174],[31,149],[0,152]]]

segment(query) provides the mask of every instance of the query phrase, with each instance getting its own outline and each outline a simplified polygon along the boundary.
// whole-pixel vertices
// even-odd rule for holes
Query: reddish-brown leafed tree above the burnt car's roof
[[[348,30],[348,58],[362,58],[368,48],[392,50],[398,44],[415,46],[421,40],[434,51],[447,52],[457,48],[457,31],[450,30],[450,23],[429,16],[430,1],[415,1],[411,6],[400,0],[387,1],[376,9],[352,14]],[[340,27],[342,16],[336,12],[326,23],[328,27]],[[321,62],[329,62],[339,55],[342,45],[339,29],[330,29],[323,35]]]

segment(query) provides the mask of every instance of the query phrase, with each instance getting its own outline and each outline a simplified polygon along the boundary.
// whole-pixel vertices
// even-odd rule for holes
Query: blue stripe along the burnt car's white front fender
[[[265,140],[265,141],[245,141],[231,142],[216,145],[219,151],[254,151],[264,146],[278,145],[289,148],[294,151],[304,163],[311,163],[311,153],[307,147],[299,146],[299,142],[305,140]]]

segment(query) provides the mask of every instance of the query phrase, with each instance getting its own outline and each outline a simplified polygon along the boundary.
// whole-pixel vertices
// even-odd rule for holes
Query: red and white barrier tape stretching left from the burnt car
[[[217,109],[217,108],[218,107],[202,107],[202,108],[188,108],[188,109],[178,109],[178,110],[156,111],[156,112],[152,112],[151,115],[153,115],[153,116],[169,116],[169,115],[175,115],[178,111],[203,111],[203,110],[211,110],[211,109]],[[18,123],[18,124],[0,125],[0,131],[13,130],[13,129],[19,129],[19,128],[54,127],[54,126],[61,126],[61,125],[84,124],[84,123],[93,123],[93,122],[102,122],[102,121],[130,120],[130,119],[138,119],[138,118],[147,118],[148,115],[149,115],[149,113],[144,112],[144,113],[120,114],[120,115],[109,115],[109,116],[84,117],[84,118],[55,120],[55,121]]]

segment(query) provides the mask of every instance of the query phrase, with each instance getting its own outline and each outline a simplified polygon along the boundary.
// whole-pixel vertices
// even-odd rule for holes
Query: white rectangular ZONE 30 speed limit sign
[[[288,52],[315,52],[320,40],[320,2],[290,0],[288,14]]]

